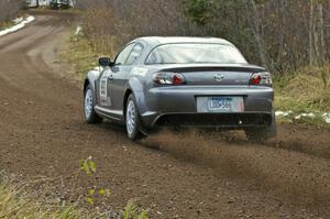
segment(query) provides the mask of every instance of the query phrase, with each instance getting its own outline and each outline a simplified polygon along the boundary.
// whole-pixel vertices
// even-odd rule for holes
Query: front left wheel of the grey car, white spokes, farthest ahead
[[[88,124],[96,124],[102,122],[102,118],[100,118],[96,111],[96,99],[94,89],[90,85],[87,86],[85,94],[84,94],[84,112],[85,112],[85,120]]]

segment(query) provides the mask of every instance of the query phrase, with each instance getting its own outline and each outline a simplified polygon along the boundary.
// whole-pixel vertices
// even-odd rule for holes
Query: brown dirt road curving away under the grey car
[[[65,200],[110,188],[99,205],[120,210],[134,198],[152,218],[330,218],[329,131],[280,125],[265,144],[164,131],[131,143],[118,125],[85,124],[81,90],[53,68],[67,19],[38,14],[0,37],[0,169],[51,177],[50,193]],[[88,156],[97,176],[75,177]]]

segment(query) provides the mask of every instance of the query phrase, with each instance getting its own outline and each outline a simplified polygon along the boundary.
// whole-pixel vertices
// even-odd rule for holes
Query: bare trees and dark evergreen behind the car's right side
[[[252,63],[282,73],[330,62],[329,0],[186,1],[206,35],[232,41]]]

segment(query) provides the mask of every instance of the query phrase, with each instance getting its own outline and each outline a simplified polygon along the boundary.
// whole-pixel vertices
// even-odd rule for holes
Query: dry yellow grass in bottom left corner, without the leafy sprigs
[[[79,199],[67,204],[59,198],[44,196],[31,189],[33,183],[18,183],[0,172],[0,219],[147,219],[148,213],[140,209],[134,200],[130,200],[120,212],[100,212],[94,205],[84,208]],[[25,182],[25,180],[24,180]],[[52,190],[53,188],[47,188]],[[80,196],[81,197],[81,196]],[[86,197],[85,197],[86,198]],[[82,195],[84,199],[84,195]]]

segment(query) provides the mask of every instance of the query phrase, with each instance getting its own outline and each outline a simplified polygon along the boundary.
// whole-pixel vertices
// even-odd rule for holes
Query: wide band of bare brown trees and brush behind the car
[[[230,40],[251,63],[277,73],[330,62],[330,13],[326,13],[330,11],[329,0],[77,0],[76,3],[87,11],[84,18],[87,35],[117,39],[119,45],[143,35],[212,35]],[[112,19],[107,19],[109,12]]]

